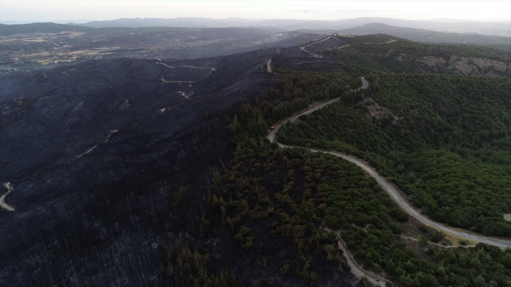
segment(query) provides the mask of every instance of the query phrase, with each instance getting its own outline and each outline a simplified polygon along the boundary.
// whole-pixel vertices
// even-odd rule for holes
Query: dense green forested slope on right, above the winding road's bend
[[[355,153],[433,220],[510,237],[511,80],[380,74],[371,83],[365,101],[302,116],[280,141]],[[371,116],[375,102],[385,114]]]

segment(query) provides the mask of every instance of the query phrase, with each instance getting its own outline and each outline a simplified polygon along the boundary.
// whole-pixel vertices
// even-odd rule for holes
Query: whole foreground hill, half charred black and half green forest
[[[211,36],[101,29],[127,31],[115,44]],[[509,55],[287,35],[234,55],[0,73],[0,284],[505,286],[508,249],[421,224],[313,149],[366,159],[437,221],[507,236]],[[268,139],[306,112],[274,131],[295,147]]]

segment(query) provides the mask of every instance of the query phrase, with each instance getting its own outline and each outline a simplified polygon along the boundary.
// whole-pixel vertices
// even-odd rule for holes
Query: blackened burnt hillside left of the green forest
[[[1,214],[0,229],[9,235],[0,282],[172,285],[162,271],[166,252],[189,238],[185,233],[190,248],[218,243],[212,256],[225,252],[222,234],[203,237],[196,228],[203,196],[212,172],[234,152],[229,118],[238,103],[275,85],[280,76],[264,64],[286,53],[93,60],[0,75],[1,181],[15,188],[7,201],[16,209]],[[290,55],[313,60],[299,50]],[[184,193],[190,196],[179,201]],[[286,246],[275,244],[280,257],[292,253]],[[238,255],[230,252],[212,272],[241,264],[245,257]],[[281,268],[280,260],[268,266]],[[258,274],[249,274],[238,280],[252,284]]]

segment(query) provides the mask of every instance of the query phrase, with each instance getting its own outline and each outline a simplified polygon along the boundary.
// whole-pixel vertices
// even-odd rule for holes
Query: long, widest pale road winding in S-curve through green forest
[[[362,87],[360,87],[359,89],[365,89],[369,85],[369,83],[366,80],[364,80],[364,79],[362,79],[362,83],[363,83]],[[273,142],[274,139],[275,139],[275,135],[277,134],[278,129],[280,129],[282,124],[286,123],[287,121],[294,121],[300,115],[312,113],[313,111],[321,109],[324,106],[329,105],[329,104],[331,104],[333,102],[336,102],[338,100],[339,100],[339,98],[331,100],[331,101],[326,102],[324,104],[321,104],[321,105],[319,105],[319,106],[317,106],[317,107],[315,107],[313,109],[304,111],[304,112],[302,112],[302,113],[300,113],[298,115],[290,116],[290,117],[287,117],[287,118],[279,121],[277,124],[275,124],[275,129],[273,131],[271,131],[266,136],[266,138],[268,138],[271,142]],[[278,146],[280,146],[280,147],[287,147],[285,145],[282,145],[282,143],[280,143],[280,142],[277,142],[277,143],[278,143]],[[292,148],[292,147],[290,147],[290,148]],[[360,159],[358,159],[358,158],[356,158],[354,156],[343,154],[343,153],[339,153],[339,152],[320,151],[320,150],[316,150],[316,149],[311,149],[311,151],[312,152],[322,152],[322,153],[333,154],[335,156],[342,157],[342,158],[346,159],[347,161],[351,161],[351,162],[355,163],[356,165],[360,166],[362,168],[362,170],[364,170],[371,177],[376,179],[378,184],[390,195],[390,197],[394,201],[396,201],[396,203],[398,203],[398,205],[401,208],[403,208],[406,212],[408,212],[408,214],[410,214],[411,216],[413,216],[414,218],[418,219],[420,222],[422,222],[422,223],[424,223],[426,225],[433,226],[433,227],[435,227],[437,229],[440,229],[440,230],[442,230],[442,231],[444,231],[446,233],[453,234],[454,236],[457,236],[457,237],[460,237],[460,238],[464,238],[466,240],[480,242],[480,243],[485,243],[485,244],[490,244],[490,245],[493,245],[493,246],[497,246],[499,248],[511,247],[511,241],[502,240],[502,239],[493,238],[493,237],[486,237],[486,236],[481,236],[481,235],[474,235],[474,234],[464,233],[464,232],[461,232],[461,231],[449,228],[447,226],[444,226],[443,224],[440,224],[438,222],[435,222],[435,221],[432,221],[432,220],[426,218],[425,216],[423,216],[422,214],[417,212],[415,209],[413,209],[413,207],[411,207],[408,204],[408,202],[398,192],[396,187],[394,187],[389,181],[387,181],[383,176],[381,176],[369,164],[367,164],[366,162],[364,162],[364,161],[362,161],[362,160],[360,160]]]

